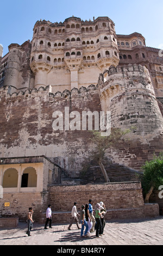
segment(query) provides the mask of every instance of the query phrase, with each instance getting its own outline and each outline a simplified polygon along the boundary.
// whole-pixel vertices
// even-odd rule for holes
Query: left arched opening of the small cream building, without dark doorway
[[[3,175],[3,187],[17,187],[18,172],[15,168],[5,170]]]

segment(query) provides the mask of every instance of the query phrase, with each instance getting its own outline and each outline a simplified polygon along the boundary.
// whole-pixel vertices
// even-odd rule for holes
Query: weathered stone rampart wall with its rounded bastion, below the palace
[[[111,111],[112,126],[134,130],[123,144],[108,150],[113,163],[139,170],[163,150],[162,115],[156,101],[148,70],[141,65],[110,68],[99,77],[98,85],[51,92],[51,86],[14,92],[0,89],[1,157],[45,155],[78,178],[85,163],[93,159],[90,132],[82,130],[83,111]],[[14,93],[13,93],[14,92]],[[53,113],[65,117],[78,111],[78,130],[54,131]],[[123,175],[124,176],[124,175]]]

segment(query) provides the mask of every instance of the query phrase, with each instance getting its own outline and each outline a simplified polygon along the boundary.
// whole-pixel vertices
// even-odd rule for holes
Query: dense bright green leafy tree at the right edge
[[[158,190],[159,186],[163,185],[163,153],[159,156],[154,154],[153,160],[146,161],[141,168],[143,170],[141,184],[145,194],[145,203],[149,203],[153,190]]]

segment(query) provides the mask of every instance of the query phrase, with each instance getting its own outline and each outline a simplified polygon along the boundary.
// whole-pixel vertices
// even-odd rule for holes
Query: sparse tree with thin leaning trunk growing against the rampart
[[[129,129],[122,131],[120,128],[112,128],[109,136],[101,136],[101,132],[91,131],[91,141],[95,145],[94,159],[99,164],[99,167],[102,170],[105,182],[110,182],[110,179],[108,177],[108,174],[106,173],[103,164],[105,150],[109,148],[114,148],[117,143],[122,142],[122,139],[123,141],[126,140],[124,139],[124,135],[129,132]]]

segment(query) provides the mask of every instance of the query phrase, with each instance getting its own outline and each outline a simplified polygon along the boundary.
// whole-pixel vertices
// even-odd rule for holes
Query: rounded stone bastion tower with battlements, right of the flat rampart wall
[[[136,64],[111,67],[99,76],[98,88],[102,109],[111,111],[112,126],[134,127],[129,141],[118,145],[115,161],[140,168],[163,149],[163,119],[148,70]]]

